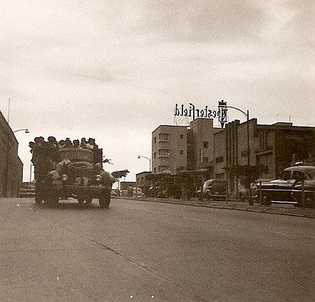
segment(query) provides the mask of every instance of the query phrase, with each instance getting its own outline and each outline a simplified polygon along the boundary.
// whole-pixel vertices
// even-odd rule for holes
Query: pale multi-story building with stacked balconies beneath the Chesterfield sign
[[[153,173],[211,167],[214,131],[212,119],[195,119],[190,126],[158,126],[152,133]]]

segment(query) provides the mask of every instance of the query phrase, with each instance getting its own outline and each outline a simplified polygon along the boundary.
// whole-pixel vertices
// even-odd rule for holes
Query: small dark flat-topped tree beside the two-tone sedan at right
[[[250,193],[250,185],[254,183],[262,174],[267,174],[269,168],[266,165],[236,165],[229,168],[229,173],[232,176],[239,178],[242,176],[242,184],[247,189],[249,204],[253,205],[252,195]]]

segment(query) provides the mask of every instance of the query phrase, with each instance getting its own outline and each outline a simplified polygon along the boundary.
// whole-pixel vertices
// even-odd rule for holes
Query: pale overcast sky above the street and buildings
[[[135,180],[176,103],[315,126],[314,36],[312,0],[1,0],[0,110],[11,99],[11,128],[31,132],[24,180],[40,135],[95,137],[105,170]]]

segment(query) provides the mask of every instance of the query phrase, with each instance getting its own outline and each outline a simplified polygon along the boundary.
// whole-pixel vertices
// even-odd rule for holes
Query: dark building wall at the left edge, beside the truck
[[[23,179],[23,163],[18,156],[19,143],[0,112],[0,196],[16,197]]]

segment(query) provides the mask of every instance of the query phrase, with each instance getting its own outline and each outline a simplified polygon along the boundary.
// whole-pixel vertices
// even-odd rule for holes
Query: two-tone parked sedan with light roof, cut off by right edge
[[[304,193],[302,190],[302,183]],[[291,203],[296,207],[303,206],[303,194],[306,207],[314,207],[315,200],[315,166],[294,166],[285,168],[282,178],[262,183],[257,190],[256,198],[262,193],[262,202]]]

